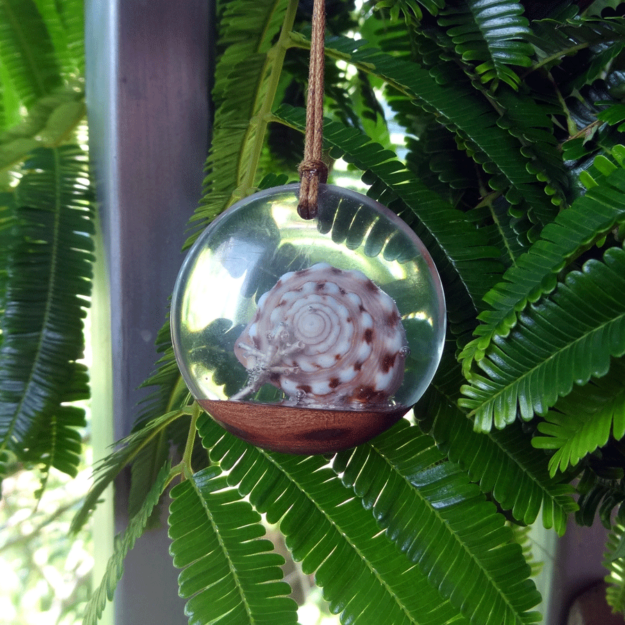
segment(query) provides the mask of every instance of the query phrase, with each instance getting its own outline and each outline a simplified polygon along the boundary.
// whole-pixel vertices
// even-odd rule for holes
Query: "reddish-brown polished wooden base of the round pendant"
[[[200,399],[225,430],[256,447],[284,453],[335,453],[371,440],[410,410],[324,410],[279,404]]]

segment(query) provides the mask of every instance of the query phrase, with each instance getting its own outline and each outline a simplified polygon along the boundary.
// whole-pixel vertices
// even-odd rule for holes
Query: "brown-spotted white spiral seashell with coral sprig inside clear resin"
[[[365,274],[318,263],[289,272],[258,300],[235,343],[247,385],[266,382],[304,406],[389,406],[403,381],[406,332],[394,301]]]

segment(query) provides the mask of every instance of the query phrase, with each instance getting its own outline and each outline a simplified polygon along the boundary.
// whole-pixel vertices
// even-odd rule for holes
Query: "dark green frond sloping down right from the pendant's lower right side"
[[[549,477],[544,453],[533,449],[520,424],[487,433],[474,431],[472,421],[457,404],[462,379],[458,363],[444,355],[431,385],[415,406],[419,426],[519,522],[532,524],[542,510],[543,525],[564,534],[569,515],[577,509],[572,487]]]

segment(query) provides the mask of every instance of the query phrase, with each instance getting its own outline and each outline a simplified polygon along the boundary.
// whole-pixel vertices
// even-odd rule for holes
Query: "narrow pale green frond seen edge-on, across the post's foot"
[[[146,497],[139,512],[131,519],[122,537],[118,537],[115,544],[115,552],[110,556],[106,565],[106,573],[98,589],[92,594],[85,608],[83,625],[95,625],[106,606],[106,601],[113,600],[113,593],[117,583],[124,574],[124,559],[134,546],[137,539],[143,534],[151,512],[158,503],[161,494],[167,486],[169,478],[169,464],[163,465],[158,478]]]

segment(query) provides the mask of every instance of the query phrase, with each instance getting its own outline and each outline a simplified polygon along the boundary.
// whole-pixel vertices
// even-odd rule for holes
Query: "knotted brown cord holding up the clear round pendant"
[[[324,37],[326,6],[324,0],[315,0],[313,32],[310,37],[310,67],[308,70],[308,102],[306,103],[306,135],[303,160],[299,165],[299,204],[297,213],[302,219],[317,217],[319,183],[328,180],[328,167],[322,160],[324,129]]]

